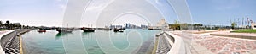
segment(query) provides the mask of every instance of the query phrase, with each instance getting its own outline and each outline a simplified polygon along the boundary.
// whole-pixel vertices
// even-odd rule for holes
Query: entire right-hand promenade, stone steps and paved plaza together
[[[212,35],[214,34],[214,35]],[[218,35],[219,34],[219,35]],[[254,36],[253,33],[230,33],[230,30],[207,32],[165,31],[157,35],[155,54],[253,54],[256,53],[256,40],[223,35]],[[179,40],[179,43],[177,42]],[[175,46],[178,45],[178,46]],[[182,49],[182,50],[181,50]],[[189,49],[189,50],[188,50]],[[178,52],[179,51],[179,52]],[[183,53],[180,53],[183,52]],[[173,53],[173,52],[172,52]]]

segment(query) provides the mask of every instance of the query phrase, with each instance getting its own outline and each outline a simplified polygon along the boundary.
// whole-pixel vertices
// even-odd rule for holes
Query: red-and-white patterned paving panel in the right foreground
[[[214,37],[209,40],[196,41],[196,43],[206,47],[213,53],[219,54],[245,54],[249,51],[256,50],[256,41],[245,41],[224,37]]]

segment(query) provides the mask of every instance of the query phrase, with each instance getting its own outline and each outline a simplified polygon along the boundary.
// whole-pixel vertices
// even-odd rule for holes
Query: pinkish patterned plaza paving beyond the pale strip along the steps
[[[183,39],[191,39],[214,54],[249,54],[251,51],[256,51],[255,40],[213,36],[210,35],[211,33],[190,35],[184,35],[182,32],[172,33]]]

